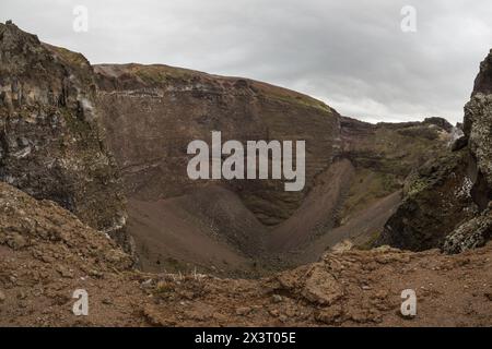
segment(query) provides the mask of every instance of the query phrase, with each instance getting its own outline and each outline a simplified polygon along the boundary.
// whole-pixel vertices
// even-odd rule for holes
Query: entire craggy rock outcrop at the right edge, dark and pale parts
[[[411,250],[443,248],[448,253],[483,245],[492,215],[492,52],[480,65],[465,106],[459,149],[431,160],[406,184],[398,210],[376,244]]]

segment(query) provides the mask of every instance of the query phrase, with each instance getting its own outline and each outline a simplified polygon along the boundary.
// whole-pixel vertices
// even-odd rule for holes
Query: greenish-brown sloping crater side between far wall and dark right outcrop
[[[443,152],[452,127],[440,118],[371,124],[342,117],[338,158],[318,174],[300,208],[271,231],[267,250],[314,261],[343,239],[380,233],[412,168]],[[313,253],[315,252],[315,253]]]

